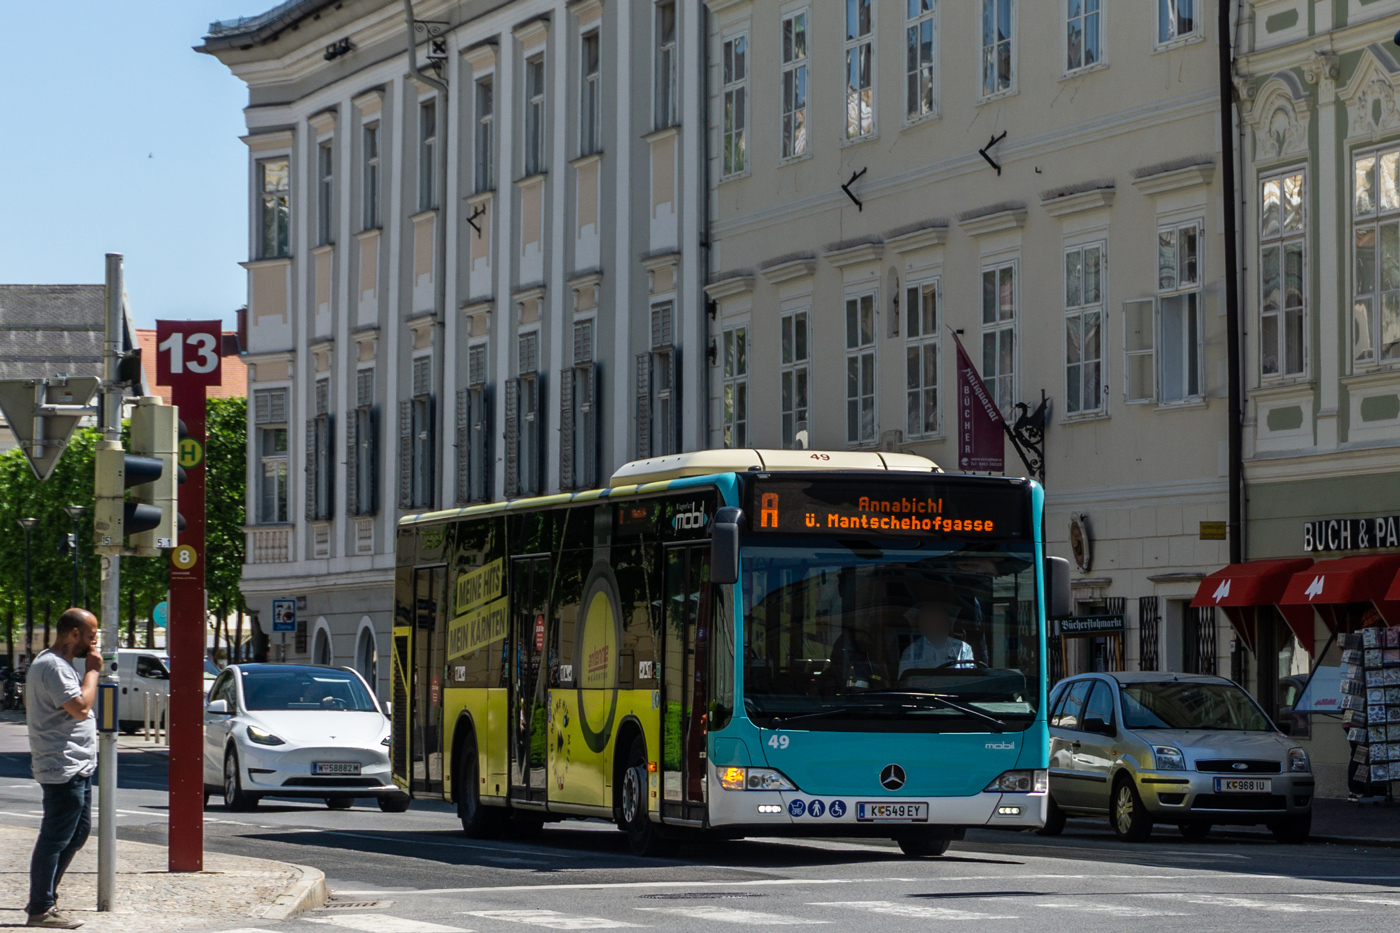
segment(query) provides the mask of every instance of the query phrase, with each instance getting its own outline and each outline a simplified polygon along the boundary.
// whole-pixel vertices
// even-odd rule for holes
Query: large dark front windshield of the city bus
[[[1029,544],[769,538],[742,569],[743,703],[760,726],[1007,731],[1035,719]]]

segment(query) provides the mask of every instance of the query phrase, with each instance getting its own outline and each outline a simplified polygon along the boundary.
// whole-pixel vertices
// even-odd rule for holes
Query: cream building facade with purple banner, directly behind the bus
[[[1124,618],[1051,667],[1228,674],[1215,4],[707,7],[711,444],[958,469],[960,340],[1008,419],[1049,399],[1050,548]]]

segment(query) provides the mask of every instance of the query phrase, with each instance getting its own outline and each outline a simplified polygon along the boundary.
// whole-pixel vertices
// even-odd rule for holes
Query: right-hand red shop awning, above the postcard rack
[[[1361,612],[1351,609],[1362,607],[1373,607],[1387,625],[1400,625],[1400,600],[1390,598],[1396,573],[1400,553],[1322,560],[1294,574],[1278,608],[1305,646],[1312,644],[1310,609],[1317,609],[1333,632],[1359,628]]]

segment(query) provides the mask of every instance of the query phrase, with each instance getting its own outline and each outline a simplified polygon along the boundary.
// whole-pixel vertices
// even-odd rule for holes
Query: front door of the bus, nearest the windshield
[[[666,548],[666,640],[661,668],[661,815],[703,822],[708,723],[710,545]]]

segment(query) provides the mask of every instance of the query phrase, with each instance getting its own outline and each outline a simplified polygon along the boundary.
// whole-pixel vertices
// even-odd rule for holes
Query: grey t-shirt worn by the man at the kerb
[[[70,661],[42,651],[24,681],[29,724],[29,768],[41,785],[62,785],[97,768],[97,717],[73,719],[63,705],[83,695],[83,679]]]

